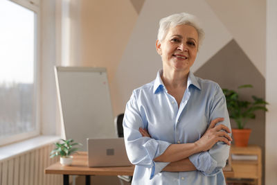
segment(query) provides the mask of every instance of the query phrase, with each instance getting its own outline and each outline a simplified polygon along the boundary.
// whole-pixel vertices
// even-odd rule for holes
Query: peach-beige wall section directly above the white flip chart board
[[[136,23],[136,10],[129,0],[82,0],[80,14],[80,63],[75,65],[106,67],[111,84]],[[111,103],[116,116],[120,111],[113,87],[110,85]]]

